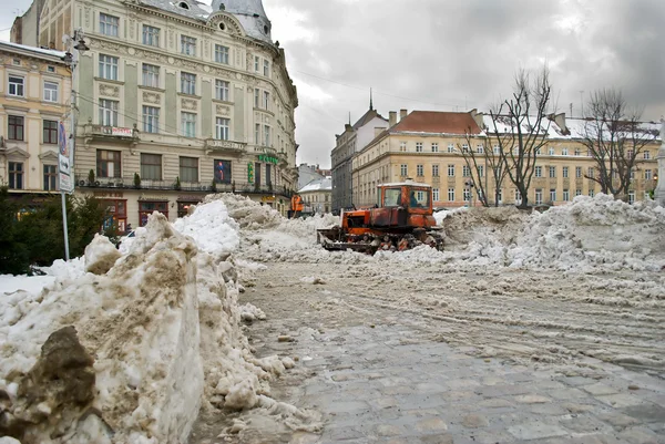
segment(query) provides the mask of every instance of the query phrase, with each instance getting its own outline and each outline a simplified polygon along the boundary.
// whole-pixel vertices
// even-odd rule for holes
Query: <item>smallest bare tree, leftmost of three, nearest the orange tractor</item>
[[[491,178],[494,185],[494,206],[499,206],[501,200],[501,186],[508,174],[505,167],[505,159],[500,155],[499,152],[494,152],[489,143],[482,144],[482,149],[479,146],[473,148],[471,128],[464,133],[464,145],[458,144],[458,151],[464,159],[464,164],[469,169],[470,187],[475,188],[478,199],[483,207],[489,207],[492,203],[489,199],[489,184],[488,180]]]

